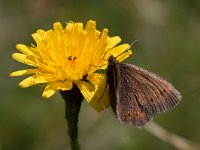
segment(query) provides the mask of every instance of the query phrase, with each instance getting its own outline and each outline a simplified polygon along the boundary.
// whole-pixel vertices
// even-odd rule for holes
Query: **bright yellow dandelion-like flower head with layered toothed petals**
[[[109,106],[107,91],[99,100],[106,87],[106,76],[96,71],[106,69],[110,55],[118,56],[129,48],[129,44],[116,46],[120,37],[109,37],[106,28],[98,31],[92,20],[85,28],[79,22],[68,22],[65,28],[56,22],[53,29],[37,30],[32,37],[36,45],[17,44],[21,53],[12,54],[13,59],[32,66],[10,74],[31,75],[19,83],[20,87],[43,84],[42,97],[49,98],[58,90],[71,90],[77,85],[86,101],[97,111]],[[122,61],[130,54],[131,50],[117,59]]]

